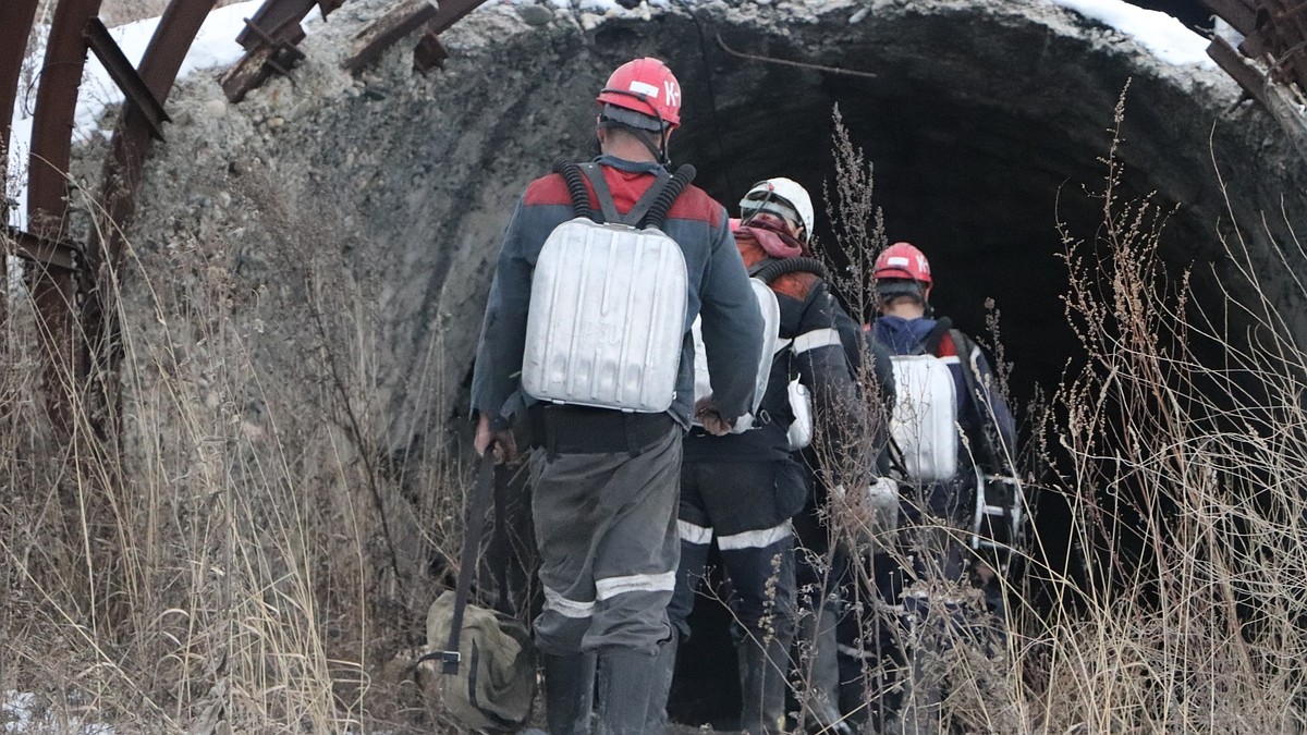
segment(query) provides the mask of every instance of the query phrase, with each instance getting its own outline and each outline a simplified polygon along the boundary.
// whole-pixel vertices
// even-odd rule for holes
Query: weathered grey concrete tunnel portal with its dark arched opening
[[[1100,158],[1127,85],[1120,192],[1179,207],[1162,241],[1168,264],[1210,264],[1219,273],[1218,222],[1231,220],[1249,228],[1253,248],[1269,252],[1270,235],[1252,224],[1264,211],[1281,211],[1280,194],[1304,183],[1274,122],[1236,105],[1238,86],[1219,71],[1170,67],[1111,29],[1038,0],[719,3],[693,13],[672,4],[652,20],[589,24],[562,13],[527,24],[499,9],[471,16],[448,37],[451,58],[426,77],[396,50],[329,103],[305,102],[320,94],[314,80],[273,82],[220,120],[182,127],[156,152],[137,224],[148,239],[152,228],[186,221],[170,208],[191,207],[201,222],[221,217],[214,205],[158,183],[159,171],[182,170],[179,161],[196,149],[256,157],[315,186],[357,191],[358,212],[371,212],[359,222],[375,243],[369,268],[389,280],[380,309],[389,324],[380,333],[391,364],[379,385],[396,450],[412,437],[467,438],[465,390],[417,399],[409,387],[431,370],[467,386],[515,197],[555,156],[595,153],[589,99],[633,56],[661,58],[682,82],[673,161],[693,163],[697,183],[732,213],[754,180],[799,180],[818,201],[817,237],[827,246],[835,237],[819,201],[833,183],[838,106],[874,167],[889,242],[911,241],[931,258],[937,314],[983,335],[985,299],[1000,310],[1018,408],[1036,388],[1055,390],[1068,362],[1085,357],[1060,302],[1067,267],[1057,225],[1090,241],[1099,230],[1102,201],[1090,192],[1103,187]],[[339,54],[325,34],[310,37],[305,50],[306,65]],[[192,90],[190,99],[203,103],[204,94]],[[311,129],[316,143],[260,132],[273,116]],[[214,129],[239,129],[246,146],[237,153],[239,146],[209,143]],[[209,180],[188,174],[184,186],[223,190],[231,169],[214,170],[222,173]],[[1285,207],[1289,222],[1303,221],[1300,197]],[[1196,298],[1223,303],[1218,286],[1200,275]],[[721,617],[697,615],[724,626]],[[711,666],[729,654],[703,653]],[[712,685],[728,689],[728,679]],[[689,691],[682,687],[682,697]],[[685,717],[720,718],[712,705],[728,709],[681,701]]]

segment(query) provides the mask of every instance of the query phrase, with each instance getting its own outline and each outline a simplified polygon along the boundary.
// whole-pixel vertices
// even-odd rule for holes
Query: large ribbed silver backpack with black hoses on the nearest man
[[[554,228],[536,260],[523,390],[553,403],[667,411],[676,396],[689,279],[681,246],[661,226],[694,167],[659,171],[626,214],[617,212],[596,163],[559,160],[554,171],[567,182],[575,218]]]

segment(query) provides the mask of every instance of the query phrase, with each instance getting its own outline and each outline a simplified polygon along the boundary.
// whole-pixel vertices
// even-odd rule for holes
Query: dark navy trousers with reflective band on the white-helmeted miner
[[[681,468],[681,565],[668,617],[681,641],[716,538],[731,581],[736,642],[789,641],[795,632],[791,517],[808,494],[792,460],[686,462]]]

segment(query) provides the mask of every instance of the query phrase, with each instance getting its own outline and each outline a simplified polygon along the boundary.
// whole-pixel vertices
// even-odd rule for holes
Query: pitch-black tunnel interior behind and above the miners
[[[759,86],[789,84],[786,72],[776,76]],[[950,97],[946,90],[850,77],[825,78],[819,89],[810,97],[805,90],[804,106],[779,114],[763,112],[767,105],[759,103],[759,111],[741,114],[754,118],[748,123],[719,114],[714,128],[690,132],[686,126],[690,145],[678,149],[673,141],[673,158],[694,162],[699,183],[732,214],[741,192],[772,175],[795,178],[819,199],[823,186],[834,190],[831,105],[838,103],[853,144],[873,165],[873,200],[884,212],[886,239],[910,241],[931,258],[936,315],[950,316],[984,341],[987,316],[999,316],[1004,354],[1013,364],[1014,408],[1038,388],[1053,391],[1068,362],[1085,360],[1060,301],[1067,265],[1057,224],[1084,238],[1099,226],[1102,204],[1081,187],[1100,190],[1095,177],[1106,169],[1094,158],[1110,139],[1100,139],[1102,150],[1077,150],[1064,133],[1039,122],[941,102]],[[1103,127],[1111,122],[1111,107],[1102,110],[1100,120]],[[702,148],[690,150],[695,144]],[[1132,184],[1145,191],[1142,183]],[[817,238],[838,262],[840,243],[821,204]],[[1046,505],[1038,509],[1040,523],[1065,535],[1065,507]],[[738,685],[729,621],[720,602],[699,599],[691,616],[694,637],[678,657],[673,721],[732,725]]]

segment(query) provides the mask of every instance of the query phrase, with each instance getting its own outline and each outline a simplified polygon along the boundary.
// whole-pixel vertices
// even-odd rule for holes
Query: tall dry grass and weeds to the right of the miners
[[[1124,94],[1117,129],[1123,119]],[[886,242],[870,165],[839,132],[835,148],[839,175],[827,199],[840,222],[838,245],[852,255],[840,285],[856,309],[870,298],[859,284]],[[1240,235],[1225,241],[1235,264],[1223,273],[1229,303],[1193,301],[1189,273],[1168,273],[1157,256],[1168,212],[1119,197],[1115,150],[1112,140],[1094,195],[1103,226],[1091,241],[1061,229],[1067,316],[1087,360],[1034,409],[1033,446],[1022,455],[1027,487],[1070,506],[1069,535],[1035,535],[1017,565],[1023,574],[1004,581],[1005,637],[992,634],[975,590],[944,570],[928,570],[908,590],[957,600],[948,621],[904,624],[884,600],[855,600],[869,641],[878,629],[899,632],[894,651],[870,651],[880,658],[865,700],[902,697],[903,711],[918,713],[904,718],[906,731],[923,723],[925,732],[1307,726],[1307,358],[1264,296]],[[1283,247],[1294,259],[1303,254],[1298,242]],[[1290,258],[1280,260],[1291,272]],[[1252,327],[1234,333],[1234,323]],[[1195,344],[1214,345],[1202,354],[1222,362],[1204,361]],[[1000,378],[1009,369],[1000,368]],[[859,412],[870,425],[878,407]],[[872,449],[827,447],[826,467],[844,483],[870,481]],[[966,540],[945,524],[877,539],[859,510],[834,506],[833,534],[864,555],[887,547],[908,564],[942,539]],[[1074,549],[1076,561],[1050,566],[1046,560],[1065,555],[1043,544]],[[925,655],[914,664],[912,651]]]

